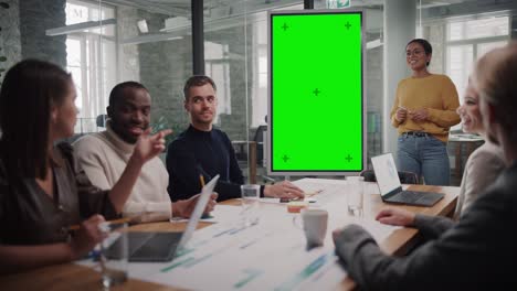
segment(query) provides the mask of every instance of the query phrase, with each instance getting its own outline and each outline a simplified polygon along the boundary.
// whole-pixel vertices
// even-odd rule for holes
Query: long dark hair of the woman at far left
[[[63,104],[71,74],[49,62],[25,60],[6,74],[0,90],[0,152],[19,177],[46,176],[52,106]]]

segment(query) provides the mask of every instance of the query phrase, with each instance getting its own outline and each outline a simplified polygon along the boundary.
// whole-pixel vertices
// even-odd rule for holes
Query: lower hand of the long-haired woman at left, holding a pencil
[[[80,229],[70,242],[72,260],[88,254],[95,245],[104,239],[105,235],[98,229],[98,224],[103,222],[105,222],[104,217],[96,214],[81,223]]]

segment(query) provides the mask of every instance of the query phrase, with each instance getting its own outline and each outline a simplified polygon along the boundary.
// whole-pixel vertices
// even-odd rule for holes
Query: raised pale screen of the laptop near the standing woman
[[[401,187],[397,166],[391,153],[371,158],[371,164],[373,165],[377,184],[379,185],[379,191],[382,196]]]

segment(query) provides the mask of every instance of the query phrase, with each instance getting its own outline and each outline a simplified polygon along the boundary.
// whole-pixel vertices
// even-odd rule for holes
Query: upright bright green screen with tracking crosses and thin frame
[[[362,12],[268,17],[268,172],[360,172],[366,162]]]

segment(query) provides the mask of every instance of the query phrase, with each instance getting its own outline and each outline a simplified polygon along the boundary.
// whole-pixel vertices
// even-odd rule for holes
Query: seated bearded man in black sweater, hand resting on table
[[[226,133],[213,128],[218,99],[215,84],[207,76],[190,77],[183,88],[184,109],[190,127],[181,132],[167,150],[169,195],[172,201],[184,200],[201,190],[200,175],[209,181],[221,175],[215,186],[218,201],[241,197],[244,176]],[[261,196],[303,197],[303,191],[284,181],[261,187]]]

